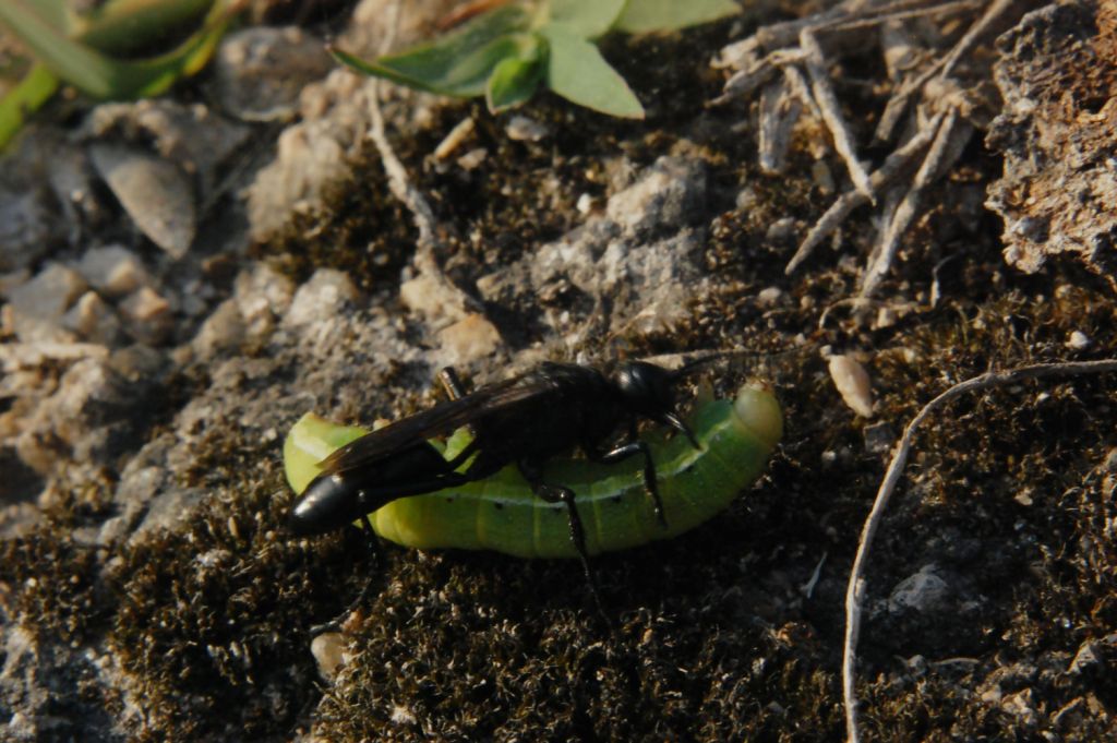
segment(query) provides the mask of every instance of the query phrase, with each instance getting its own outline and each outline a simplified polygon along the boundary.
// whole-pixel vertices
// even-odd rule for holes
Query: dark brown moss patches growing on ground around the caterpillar
[[[898,434],[951,383],[1117,347],[1115,302],[1067,265],[1029,277],[1011,272],[1000,225],[960,217],[958,190],[997,174],[975,142],[928,198],[937,206],[905,240],[881,293],[881,306],[898,308],[896,322],[872,328],[837,305],[820,326],[823,312],[856,290],[869,212],[844,228],[841,249],[856,261],[821,250],[784,276],[789,251],[765,240],[767,227],[787,216],[812,220],[833,197],[803,174],[809,168],[756,171],[755,143],[729,130],[741,112],[703,108],[717,88],[706,59],[725,34],[607,47],[642,98],[672,102],[657,104],[648,125],[544,97],[528,112],[554,132],[540,144],[506,140],[499,122],[462,104],[397,145],[449,228],[443,258],[464,285],[576,225],[579,194],[605,193],[610,159],[648,164],[684,140],[709,153],[719,216],[706,260],[716,288],[671,333],[622,342],[632,353],[780,350],[803,336],[805,351],[775,355],[761,370],[787,421],[763,482],[690,534],[595,560],[611,627],[575,563],[392,545],[373,558],[355,534],[285,537],[290,496],[277,446],[225,421],[183,475],[211,493],[188,528],[122,549],[98,575],[87,552],[65,546],[68,522],[58,517],[8,543],[0,561],[25,623],[76,642],[107,636],[144,701],[137,740],[286,740],[311,728],[330,741],[842,740],[844,580],[887,463],[867,450],[866,423],[842,404],[818,349],[869,352],[876,420]],[[879,99],[859,97],[869,95],[863,88],[843,93],[853,113],[879,108]],[[488,156],[469,172],[431,168],[424,155],[467,115],[479,122]],[[408,260],[410,221],[371,156],[356,172],[315,217],[313,236],[297,222],[261,250],[289,256],[303,276],[335,265],[366,287],[390,287]],[[757,196],[747,211],[734,206],[744,185]],[[785,301],[762,306],[756,294],[772,286]],[[523,345],[541,340],[535,330],[502,331]],[[1066,346],[1073,331],[1091,340],[1080,354]],[[612,350],[592,352],[607,359]],[[738,364],[720,381],[756,372]],[[1109,531],[1117,473],[1106,464],[1117,446],[1115,389],[1108,378],[1021,384],[963,399],[919,435],[867,577],[867,740],[1114,733],[1117,698],[1089,674],[1065,671],[1080,645],[1117,631]],[[823,560],[808,596],[802,587]],[[949,609],[878,610],[891,587],[929,563],[954,577]],[[352,658],[334,684],[319,682],[309,627],[365,581],[372,590],[351,627]],[[1111,663],[1114,647],[1101,647]],[[915,656],[927,664],[905,660]],[[961,660],[941,663],[952,659]],[[990,674],[1012,664],[1031,670],[1002,690],[1031,689],[1039,713],[1031,722],[982,698]],[[1078,713],[1051,722],[1075,699]]]

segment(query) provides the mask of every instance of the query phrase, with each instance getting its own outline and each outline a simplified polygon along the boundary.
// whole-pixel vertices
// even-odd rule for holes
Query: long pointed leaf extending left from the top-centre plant
[[[519,47],[517,31],[526,30],[529,19],[519,6],[504,6],[483,13],[433,44],[402,54],[362,60],[333,50],[342,64],[365,75],[375,75],[421,91],[471,97],[485,93],[493,70]]]

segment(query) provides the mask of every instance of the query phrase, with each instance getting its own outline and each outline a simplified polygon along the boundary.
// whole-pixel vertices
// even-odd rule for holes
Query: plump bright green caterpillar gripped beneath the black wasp
[[[585,527],[588,554],[627,550],[666,540],[707,521],[756,479],[783,435],[783,413],[772,391],[744,385],[734,400],[700,403],[690,418],[699,444],[685,437],[647,437],[656,463],[666,527],[656,517],[634,459],[602,465],[584,459],[552,459],[546,480],[570,487]],[[337,426],[306,413],[284,442],[287,482],[302,493],[317,467],[366,429]],[[447,459],[469,441],[459,430],[445,445]],[[437,445],[442,448],[441,445]],[[369,517],[382,537],[421,550],[495,550],[519,558],[577,558],[562,503],[547,503],[513,466],[484,480],[399,498]]]

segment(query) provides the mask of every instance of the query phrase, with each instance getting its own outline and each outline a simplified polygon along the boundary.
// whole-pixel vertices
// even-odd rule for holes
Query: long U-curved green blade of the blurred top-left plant
[[[39,0],[39,4],[42,0]],[[180,77],[206,64],[229,22],[223,3],[202,28],[171,51],[149,59],[114,59],[68,39],[49,26],[26,0],[0,2],[0,22],[58,77],[96,98],[159,95]]]

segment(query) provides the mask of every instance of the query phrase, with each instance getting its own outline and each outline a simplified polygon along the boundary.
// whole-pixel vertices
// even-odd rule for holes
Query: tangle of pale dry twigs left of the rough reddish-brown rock
[[[967,97],[980,99],[980,96],[961,88],[953,74],[996,23],[1011,11],[1023,12],[1027,6],[1028,0],[847,0],[809,18],[761,28],[748,39],[723,50],[717,65],[737,72],[729,77],[716,103],[763,91],[758,137],[762,166],[770,169],[773,163],[779,165],[783,155],[780,145],[790,139],[784,133],[794,124],[790,121],[794,111],[786,105],[776,105],[776,102],[785,102],[789,92],[792,92],[803,102],[802,109],[822,121],[830,131],[834,150],[853,183],[853,190],[842,194],[811,228],[789,261],[786,273],[795,270],[823,238],[841,226],[853,208],[871,202],[885,217],[886,227],[880,230],[866,266],[860,294],[869,295],[880,286],[889,273],[900,240],[920,213],[923,197],[949,169],[973,134],[974,124],[970,121],[973,101],[967,101]],[[831,54],[839,54],[842,49],[863,50],[866,31],[879,29],[885,23],[960,15],[970,15],[974,20],[949,49],[917,49],[913,42],[911,59],[917,64],[892,68],[892,94],[881,113],[875,137],[891,141],[905,121],[908,122],[907,128],[916,133],[897,146],[876,172],[868,174],[857,156],[850,126],[841,114],[830,79],[830,60],[823,47]],[[910,38],[914,40],[919,36],[913,34]],[[871,42],[871,37],[868,40]],[[978,60],[977,69],[970,72],[977,77],[987,77],[982,64]],[[781,68],[784,70],[783,82],[773,83]],[[796,76],[799,80],[803,78],[800,68],[805,70],[810,80],[809,91],[795,85]],[[913,105],[914,102],[917,105]],[[910,183],[894,185],[890,191],[881,193],[880,189],[907,172],[908,162],[928,146],[930,150],[922,166],[910,175]],[[888,204],[896,207],[888,209]]]

